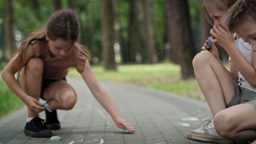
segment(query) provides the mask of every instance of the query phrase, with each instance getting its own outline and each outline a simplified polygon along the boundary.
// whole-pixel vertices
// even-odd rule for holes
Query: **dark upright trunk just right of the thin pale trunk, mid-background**
[[[128,26],[128,44],[126,49],[126,61],[136,62],[136,48],[138,47],[138,20],[137,20],[137,0],[131,0],[130,3],[130,16],[129,16],[129,26]]]

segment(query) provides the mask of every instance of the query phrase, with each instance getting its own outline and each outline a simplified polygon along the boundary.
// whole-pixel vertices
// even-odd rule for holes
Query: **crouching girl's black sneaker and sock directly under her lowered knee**
[[[51,130],[59,130],[60,122],[57,117],[57,111],[54,110],[52,112],[49,112],[48,110],[45,110],[45,116],[46,116],[46,127]]]

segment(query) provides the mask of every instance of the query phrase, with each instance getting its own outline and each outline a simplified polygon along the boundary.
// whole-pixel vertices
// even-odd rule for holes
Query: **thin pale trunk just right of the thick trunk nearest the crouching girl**
[[[117,0],[112,0],[113,4],[113,15],[114,15],[114,31],[115,31],[115,40],[119,44],[119,52],[120,54],[123,53],[123,43],[122,43],[122,34],[120,30],[120,19],[119,19],[119,11],[118,11],[118,1]],[[123,57],[122,57],[123,61]]]

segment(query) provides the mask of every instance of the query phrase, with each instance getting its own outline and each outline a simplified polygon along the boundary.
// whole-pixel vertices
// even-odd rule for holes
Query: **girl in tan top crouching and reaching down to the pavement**
[[[60,10],[48,20],[46,27],[34,32],[20,47],[18,55],[2,71],[8,87],[27,105],[28,117],[24,133],[32,137],[50,137],[52,129],[60,129],[57,109],[70,110],[77,94],[66,81],[68,68],[74,67],[98,102],[121,129],[135,131],[115,109],[107,92],[95,79],[87,59],[87,51],[78,43],[79,22],[72,10]],[[18,72],[17,80],[14,74]],[[39,103],[48,101],[48,107]],[[46,123],[38,117],[45,111]]]

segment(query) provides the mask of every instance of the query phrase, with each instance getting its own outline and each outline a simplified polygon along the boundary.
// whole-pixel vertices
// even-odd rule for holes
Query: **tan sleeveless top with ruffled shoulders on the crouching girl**
[[[44,62],[43,79],[62,79],[66,77],[71,67],[76,68],[78,73],[83,72],[87,59],[83,47],[74,46],[65,56],[57,58],[50,55],[48,43],[45,46],[39,46],[35,41],[32,41],[32,43],[34,43],[32,46],[34,56]]]

